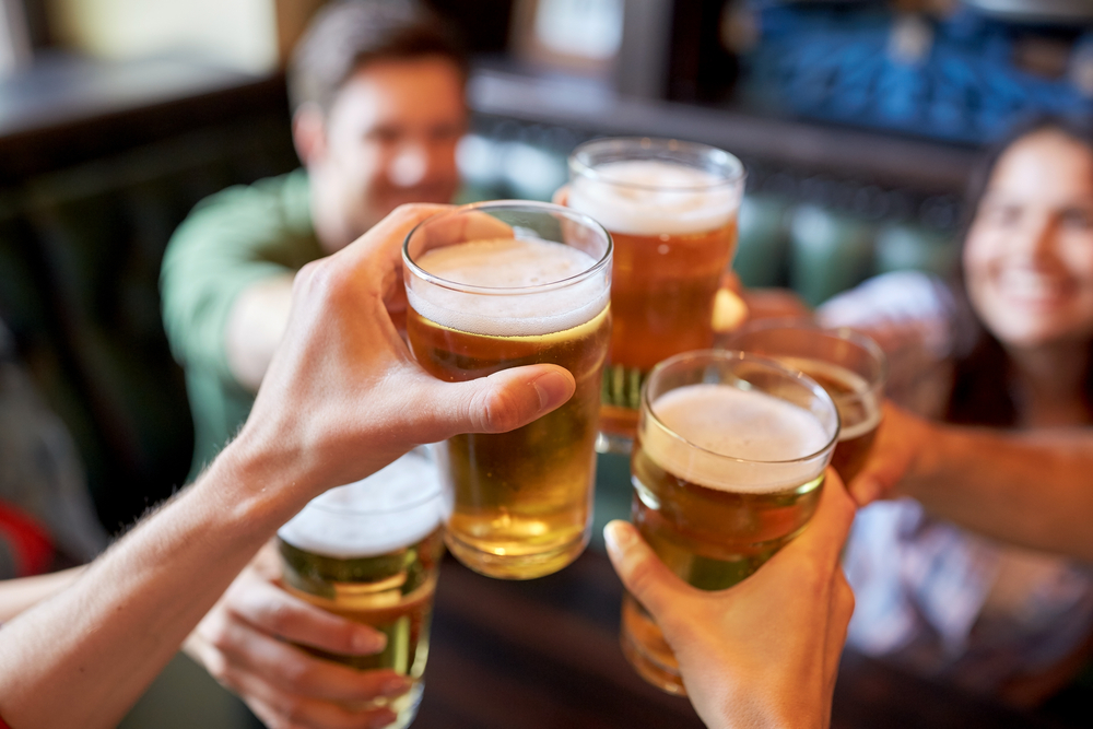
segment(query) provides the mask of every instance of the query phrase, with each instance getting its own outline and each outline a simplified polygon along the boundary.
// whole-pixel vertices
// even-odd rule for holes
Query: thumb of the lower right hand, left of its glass
[[[603,528],[608,556],[619,579],[658,622],[692,588],[645,543],[634,525],[614,520]]]

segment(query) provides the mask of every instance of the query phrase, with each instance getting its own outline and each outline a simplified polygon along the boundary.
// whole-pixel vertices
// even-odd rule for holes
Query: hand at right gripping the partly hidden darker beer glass
[[[900,482],[919,469],[933,437],[929,422],[885,401],[869,458],[849,484],[858,506],[895,496]]]

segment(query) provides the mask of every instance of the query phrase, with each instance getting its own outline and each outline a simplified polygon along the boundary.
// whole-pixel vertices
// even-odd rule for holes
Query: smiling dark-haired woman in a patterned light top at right
[[[893,371],[914,349],[908,332],[931,332],[935,353],[951,358],[935,371],[947,373],[935,378],[941,397],[921,414],[1054,438],[1090,433],[1093,130],[1056,118],[1015,130],[985,160],[968,203],[951,295],[901,274],[839,297],[821,317],[870,329]],[[868,314],[847,320],[855,307]],[[929,316],[912,326],[910,309]],[[1037,478],[1026,487],[1050,486],[1051,472]],[[1088,565],[987,540],[916,502],[862,510],[846,566],[858,605],[850,644],[918,672],[1032,705],[1093,655]]]

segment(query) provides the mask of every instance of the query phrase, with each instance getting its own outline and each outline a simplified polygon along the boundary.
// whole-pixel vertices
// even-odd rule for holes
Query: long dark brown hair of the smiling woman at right
[[[1089,118],[1037,115],[1016,125],[984,156],[973,173],[964,209],[963,239],[978,212],[995,167],[1001,156],[1016,142],[1044,131],[1063,134],[1093,152],[1093,124]],[[1001,343],[979,321],[972,308],[964,283],[963,259],[957,264],[952,285],[956,302],[955,368],[945,420],[969,425],[1013,426],[1018,408],[1009,376],[1009,357]],[[1084,398],[1093,411],[1093,342],[1090,343],[1091,366],[1085,375]]]

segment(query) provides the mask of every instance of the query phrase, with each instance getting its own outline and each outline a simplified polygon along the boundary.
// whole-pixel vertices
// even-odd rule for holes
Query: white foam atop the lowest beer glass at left
[[[435,498],[410,506],[430,494]],[[367,479],[313,498],[278,537],[297,549],[342,560],[385,554],[432,533],[440,525],[440,501],[436,465],[410,452]]]

